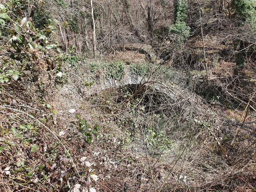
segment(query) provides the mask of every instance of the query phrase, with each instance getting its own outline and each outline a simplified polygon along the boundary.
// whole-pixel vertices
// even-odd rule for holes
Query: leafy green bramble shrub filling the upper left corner
[[[37,60],[38,50],[47,55],[48,49],[58,46],[48,42],[47,36],[51,33],[52,26],[38,31],[32,21],[23,17],[21,10],[28,9],[29,4],[24,4],[23,1],[9,1],[6,6],[0,4],[0,41],[1,48],[6,51],[3,68],[0,69],[0,83],[6,83],[11,79],[17,81],[23,76],[23,70],[33,68],[26,66]]]

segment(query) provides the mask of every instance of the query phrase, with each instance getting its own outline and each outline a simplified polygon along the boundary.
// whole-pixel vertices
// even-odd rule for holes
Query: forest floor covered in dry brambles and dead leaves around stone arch
[[[233,76],[234,63],[212,55],[216,78],[209,81],[221,84],[221,77]],[[126,67],[146,63],[137,51],[117,51],[115,59],[128,61]],[[160,69],[151,86],[91,95],[86,92],[108,74],[101,62],[64,62],[61,74],[45,66],[42,61],[40,81],[21,78],[0,88],[0,190],[255,191],[256,126],[240,122],[244,113],[253,120],[247,108],[196,94],[170,64],[146,65]],[[195,84],[211,89],[205,74],[193,74]]]

